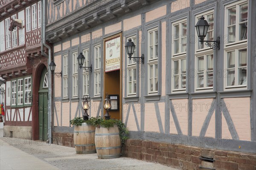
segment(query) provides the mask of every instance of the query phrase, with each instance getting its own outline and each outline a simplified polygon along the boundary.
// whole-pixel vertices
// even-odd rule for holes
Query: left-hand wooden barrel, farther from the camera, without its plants
[[[82,123],[81,126],[75,126],[74,145],[77,154],[96,153],[95,149],[95,127]]]

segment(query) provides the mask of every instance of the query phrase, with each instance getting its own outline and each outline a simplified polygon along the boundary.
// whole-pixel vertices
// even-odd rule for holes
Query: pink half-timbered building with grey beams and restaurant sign
[[[82,116],[83,96],[90,116],[104,116],[108,93],[119,102],[111,118],[130,130],[125,155],[184,169],[246,167],[219,160],[256,153],[255,8],[254,0],[48,0],[47,41],[63,73],[54,77],[53,141],[73,146],[69,120]],[[205,40],[220,37],[219,49],[198,42],[202,15]],[[144,62],[128,59],[129,38]],[[92,72],[79,68],[80,53]]]

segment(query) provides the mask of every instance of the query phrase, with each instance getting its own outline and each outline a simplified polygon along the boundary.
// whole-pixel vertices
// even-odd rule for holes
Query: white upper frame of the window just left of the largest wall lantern
[[[175,26],[179,25],[179,34],[180,32],[182,33],[182,24],[186,23],[187,26],[187,20],[183,19],[183,20],[179,20],[177,22],[172,23],[172,56],[176,56],[176,55],[181,55],[181,54],[186,54],[186,51],[182,51],[182,39],[186,38],[186,50],[187,50],[187,27],[186,27],[186,37],[182,37],[182,35],[175,35]],[[177,53],[175,53],[175,40],[179,40],[179,51]]]

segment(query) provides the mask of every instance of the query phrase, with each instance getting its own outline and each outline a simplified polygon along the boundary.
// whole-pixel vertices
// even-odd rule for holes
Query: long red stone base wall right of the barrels
[[[202,170],[203,167],[216,170],[256,170],[255,154],[136,139],[128,139],[122,148],[122,155],[183,170]],[[215,161],[202,161],[199,157]]]

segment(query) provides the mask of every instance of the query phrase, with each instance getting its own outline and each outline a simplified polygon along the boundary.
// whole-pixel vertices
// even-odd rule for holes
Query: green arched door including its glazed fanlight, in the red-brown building
[[[48,139],[48,72],[44,67],[41,73],[38,91],[39,140]]]

